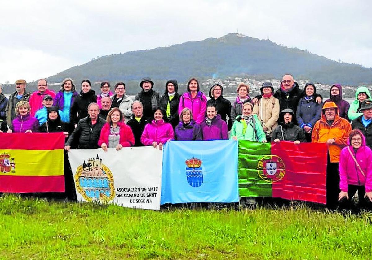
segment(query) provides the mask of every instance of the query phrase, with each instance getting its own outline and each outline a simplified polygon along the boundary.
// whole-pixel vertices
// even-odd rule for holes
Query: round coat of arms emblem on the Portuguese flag
[[[266,182],[277,182],[285,175],[285,165],[279,156],[266,155],[257,163],[257,172],[261,179]]]

